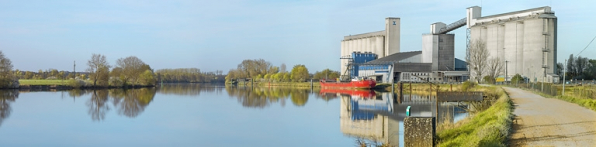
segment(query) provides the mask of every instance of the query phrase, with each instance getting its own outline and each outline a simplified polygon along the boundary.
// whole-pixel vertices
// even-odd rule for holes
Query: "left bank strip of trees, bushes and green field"
[[[0,50],[0,89],[115,89],[155,87],[158,83],[213,83],[224,82],[223,71],[201,72],[197,68],[160,69],[151,66],[136,56],[116,60],[114,67],[106,56],[92,54],[82,72],[21,71],[13,70],[10,59]],[[73,63],[76,67],[76,63]],[[85,68],[85,66],[84,66]]]

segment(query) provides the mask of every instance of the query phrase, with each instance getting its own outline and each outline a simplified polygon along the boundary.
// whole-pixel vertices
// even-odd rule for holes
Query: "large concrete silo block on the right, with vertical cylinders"
[[[470,42],[486,42],[489,59],[499,58],[507,64],[502,73],[507,72],[508,80],[520,74],[537,82],[559,81],[559,76],[554,74],[557,71],[557,17],[550,7],[481,16],[481,8],[475,6],[467,12]]]

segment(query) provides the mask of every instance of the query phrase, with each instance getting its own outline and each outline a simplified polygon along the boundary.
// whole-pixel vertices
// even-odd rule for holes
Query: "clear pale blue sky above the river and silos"
[[[401,18],[401,51],[421,50],[422,34],[434,22],[551,6],[558,17],[558,62],[578,54],[596,36],[596,1],[455,0],[0,0],[0,50],[14,68],[86,68],[91,54],[137,56],[154,69],[236,68],[244,59],[265,59],[310,72],[339,70],[343,36],[384,29],[384,18]],[[465,29],[455,56],[465,57]],[[595,58],[596,43],[581,54]]]

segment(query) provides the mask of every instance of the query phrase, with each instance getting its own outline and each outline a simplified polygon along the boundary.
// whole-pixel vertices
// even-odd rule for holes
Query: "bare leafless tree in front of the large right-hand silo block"
[[[487,64],[488,50],[486,49],[486,42],[482,40],[475,40],[470,44],[470,53],[468,55],[468,65],[470,65],[470,74],[476,75],[476,81],[480,83],[482,75],[484,75]]]

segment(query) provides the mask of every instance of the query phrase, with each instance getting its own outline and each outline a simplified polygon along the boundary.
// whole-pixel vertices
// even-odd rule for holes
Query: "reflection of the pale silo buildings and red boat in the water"
[[[321,90],[321,95],[336,94],[340,100],[340,130],[352,136],[359,145],[403,145],[403,120],[406,107],[411,106],[411,116],[435,116],[437,105],[434,97],[404,95],[401,99],[390,92],[363,90]],[[454,122],[462,117],[457,103],[439,104],[439,123]],[[465,116],[464,116],[465,117]],[[366,141],[364,141],[366,140]],[[401,144],[400,144],[401,143]]]

